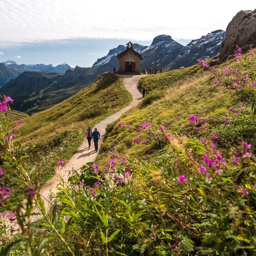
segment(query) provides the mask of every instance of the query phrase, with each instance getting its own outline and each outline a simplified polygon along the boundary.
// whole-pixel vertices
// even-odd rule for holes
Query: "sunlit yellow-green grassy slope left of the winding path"
[[[20,127],[22,142],[34,146],[28,152],[28,164],[40,169],[41,183],[53,175],[58,160],[67,161],[75,153],[88,125],[93,126],[131,100],[122,79],[106,73],[101,80],[51,109],[25,118]]]

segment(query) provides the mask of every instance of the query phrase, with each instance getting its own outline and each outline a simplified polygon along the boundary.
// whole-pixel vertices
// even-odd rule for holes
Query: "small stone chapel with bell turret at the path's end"
[[[142,56],[133,49],[132,42],[128,42],[126,49],[117,55],[119,74],[140,74]]]

